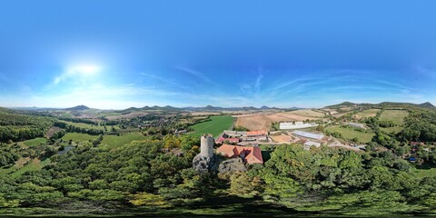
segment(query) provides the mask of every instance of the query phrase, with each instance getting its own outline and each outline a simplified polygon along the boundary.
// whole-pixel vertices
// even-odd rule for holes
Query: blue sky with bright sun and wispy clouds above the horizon
[[[0,106],[436,104],[434,1],[0,2]]]

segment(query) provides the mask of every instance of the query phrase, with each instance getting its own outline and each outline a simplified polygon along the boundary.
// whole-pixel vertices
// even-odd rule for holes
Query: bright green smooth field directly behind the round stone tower
[[[219,134],[222,134],[224,130],[230,129],[232,124],[232,116],[211,116],[211,121],[194,124],[192,128],[195,131],[194,135],[196,136],[202,134],[213,134],[213,136],[216,137]]]

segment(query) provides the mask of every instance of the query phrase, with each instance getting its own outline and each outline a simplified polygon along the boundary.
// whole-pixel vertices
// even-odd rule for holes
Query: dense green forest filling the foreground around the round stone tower
[[[55,124],[72,131],[70,125],[51,123],[51,118],[23,114],[5,117],[5,124],[12,124],[8,120],[16,117],[15,126],[40,122],[45,124],[43,129]],[[375,136],[366,152],[329,147],[306,151],[300,144],[281,144],[263,149],[269,154],[265,163],[225,174],[193,170],[200,142],[191,135],[144,130],[149,135],[145,140],[113,149],[100,144],[101,134],[64,154],[56,154],[54,149],[62,139],[35,145],[32,152],[4,143],[0,167],[10,167],[20,157],[50,158],[50,163],[41,170],[2,175],[0,208],[62,210],[74,205],[90,210],[103,208],[99,213],[146,212],[240,199],[253,206],[278,206],[294,213],[436,213],[436,174],[421,173],[436,166],[434,151],[424,152],[409,144],[434,140],[435,117],[433,111],[412,111],[399,134],[377,130],[378,120],[368,120]],[[4,139],[12,138],[6,135]],[[409,161],[411,150],[421,162]]]

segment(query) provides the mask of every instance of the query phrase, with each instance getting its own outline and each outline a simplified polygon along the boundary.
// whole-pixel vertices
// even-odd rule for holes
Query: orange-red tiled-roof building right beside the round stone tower
[[[249,164],[263,163],[260,147],[223,144],[218,149],[216,149],[216,152],[223,154],[226,157],[241,157],[243,158],[244,162]]]

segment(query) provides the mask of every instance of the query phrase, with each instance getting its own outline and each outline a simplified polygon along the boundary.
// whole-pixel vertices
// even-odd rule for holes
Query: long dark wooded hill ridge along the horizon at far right
[[[382,102],[379,104],[369,104],[369,103],[363,103],[363,104],[356,104],[351,102],[343,102],[341,104],[333,104],[330,106],[326,106],[325,108],[341,108],[344,106],[350,106],[350,107],[419,107],[419,108],[429,108],[434,109],[436,108],[433,104],[430,102],[422,103],[422,104],[412,104],[412,103],[394,103],[394,102]]]

